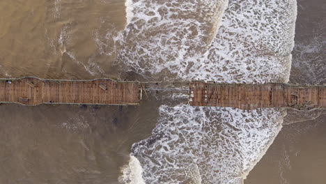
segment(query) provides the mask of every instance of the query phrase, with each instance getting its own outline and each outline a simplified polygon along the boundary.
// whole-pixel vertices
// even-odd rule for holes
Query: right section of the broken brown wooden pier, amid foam
[[[326,86],[192,82],[189,84],[189,104],[240,109],[326,109]]]

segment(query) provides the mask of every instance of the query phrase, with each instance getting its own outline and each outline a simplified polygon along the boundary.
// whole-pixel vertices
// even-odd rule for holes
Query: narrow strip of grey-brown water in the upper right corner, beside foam
[[[300,4],[293,49],[290,80],[301,84],[326,84],[326,20],[324,1],[298,1]]]

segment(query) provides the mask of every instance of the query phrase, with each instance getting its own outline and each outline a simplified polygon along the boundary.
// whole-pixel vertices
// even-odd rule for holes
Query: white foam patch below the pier
[[[265,154],[284,115],[163,105],[153,135],[134,144],[132,154],[146,183],[240,183]]]

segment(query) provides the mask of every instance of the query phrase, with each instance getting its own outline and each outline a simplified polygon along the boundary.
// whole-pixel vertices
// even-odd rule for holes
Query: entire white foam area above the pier
[[[134,45],[124,40],[127,44],[121,59],[143,75],[150,72],[150,77],[166,80],[168,70],[181,79],[287,82],[297,13],[295,0],[230,1],[223,17],[226,2],[212,2],[194,8],[189,2],[148,6],[146,1],[137,1],[133,5],[134,18],[125,30]],[[199,13],[192,17],[191,12],[200,8],[210,16]],[[166,14],[160,13],[162,10]],[[187,14],[191,18],[175,18]],[[222,26],[217,32],[221,17]],[[215,25],[215,31],[207,33],[208,24]],[[194,27],[198,34],[192,38]]]

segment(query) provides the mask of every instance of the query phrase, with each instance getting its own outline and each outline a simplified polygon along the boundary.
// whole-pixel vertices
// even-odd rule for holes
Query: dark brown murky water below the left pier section
[[[141,107],[0,106],[0,183],[118,183],[135,141],[155,127]]]

